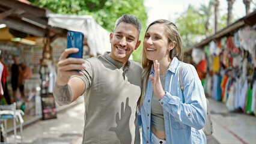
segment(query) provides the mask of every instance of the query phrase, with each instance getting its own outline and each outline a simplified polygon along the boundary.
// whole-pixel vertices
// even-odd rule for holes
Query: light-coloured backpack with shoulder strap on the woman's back
[[[181,79],[181,70],[182,70],[183,65],[184,64],[181,65],[180,71],[178,73],[178,77],[180,79],[180,89],[181,89],[181,91],[184,91],[184,85],[183,85],[183,82],[182,82],[182,79]],[[212,125],[212,119],[211,119],[211,116],[210,116],[210,114],[211,114],[210,113],[210,104],[209,104],[209,101],[207,100],[207,98],[206,98],[206,105],[207,105],[207,116],[206,116],[206,124],[203,127],[203,131],[204,131],[204,134],[206,134],[207,136],[210,136],[213,133],[213,125]]]

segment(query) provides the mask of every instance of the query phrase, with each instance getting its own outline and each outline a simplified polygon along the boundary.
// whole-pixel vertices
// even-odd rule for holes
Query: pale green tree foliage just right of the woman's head
[[[175,25],[180,32],[184,50],[213,35],[215,27],[213,13],[210,12],[211,10],[207,12],[207,9],[211,8],[211,4],[207,6],[201,5],[198,11],[189,5],[187,10],[178,16]],[[221,18],[218,20],[220,30],[227,27],[227,16],[227,14],[219,16]]]

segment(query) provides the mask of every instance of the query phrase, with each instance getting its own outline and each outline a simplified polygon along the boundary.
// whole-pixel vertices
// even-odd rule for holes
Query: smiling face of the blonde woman
[[[143,47],[147,58],[151,61],[168,61],[171,46],[168,43],[165,25],[162,23],[151,25],[145,33]]]

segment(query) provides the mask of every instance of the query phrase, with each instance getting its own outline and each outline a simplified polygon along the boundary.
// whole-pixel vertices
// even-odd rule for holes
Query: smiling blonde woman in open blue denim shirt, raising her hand
[[[206,143],[201,130],[206,122],[203,86],[195,68],[181,62],[174,23],[161,19],[148,26],[142,56],[144,90],[138,115],[143,143]],[[181,65],[184,91],[178,78]]]

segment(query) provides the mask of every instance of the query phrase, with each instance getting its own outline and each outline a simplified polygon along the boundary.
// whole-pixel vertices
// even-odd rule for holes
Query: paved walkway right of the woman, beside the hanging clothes
[[[228,112],[225,103],[208,98],[213,121],[212,136],[224,144],[256,143],[256,116]]]

